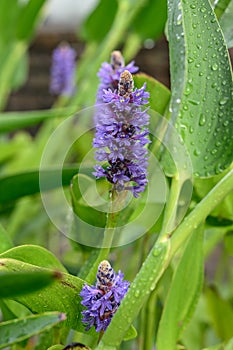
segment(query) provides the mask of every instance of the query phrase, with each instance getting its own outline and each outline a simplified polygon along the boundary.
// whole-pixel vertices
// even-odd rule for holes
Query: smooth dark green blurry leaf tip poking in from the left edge
[[[0,264],[0,298],[13,298],[38,291],[61,278],[61,274],[52,271],[14,272],[4,271],[4,262]]]

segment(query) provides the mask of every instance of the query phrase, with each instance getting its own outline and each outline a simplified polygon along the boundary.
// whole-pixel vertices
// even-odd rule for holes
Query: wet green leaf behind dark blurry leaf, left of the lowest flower
[[[51,271],[10,258],[0,259],[0,266],[9,272]],[[61,280],[55,281],[50,286],[41,289],[38,293],[17,296],[12,299],[26,306],[32,313],[47,311],[64,312],[67,316],[65,326],[83,332],[84,328],[81,323],[82,307],[79,296],[83,284],[84,281],[80,278],[62,273]]]

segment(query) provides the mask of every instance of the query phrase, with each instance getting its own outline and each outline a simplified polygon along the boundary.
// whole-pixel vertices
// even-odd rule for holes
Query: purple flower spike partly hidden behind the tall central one
[[[100,84],[98,87],[96,103],[103,102],[103,91],[110,89],[115,91],[118,88],[120,75],[125,70],[130,73],[136,73],[138,67],[134,65],[134,61],[125,66],[124,58],[120,51],[113,51],[111,54],[111,62],[104,62],[98,72]]]

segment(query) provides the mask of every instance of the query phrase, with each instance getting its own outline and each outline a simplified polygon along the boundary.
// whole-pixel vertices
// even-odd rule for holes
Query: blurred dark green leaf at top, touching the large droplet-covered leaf
[[[155,14],[159,13],[159,16]],[[132,23],[133,31],[142,39],[158,39],[164,30],[167,19],[167,1],[149,0]]]

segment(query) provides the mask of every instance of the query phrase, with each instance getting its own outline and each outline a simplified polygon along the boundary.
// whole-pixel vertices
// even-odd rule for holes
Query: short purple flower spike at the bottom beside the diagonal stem
[[[86,330],[92,326],[97,332],[106,330],[129,287],[129,282],[123,278],[121,271],[116,274],[104,260],[98,267],[95,286],[84,285],[80,296],[83,298],[81,304],[87,308],[82,311]]]

